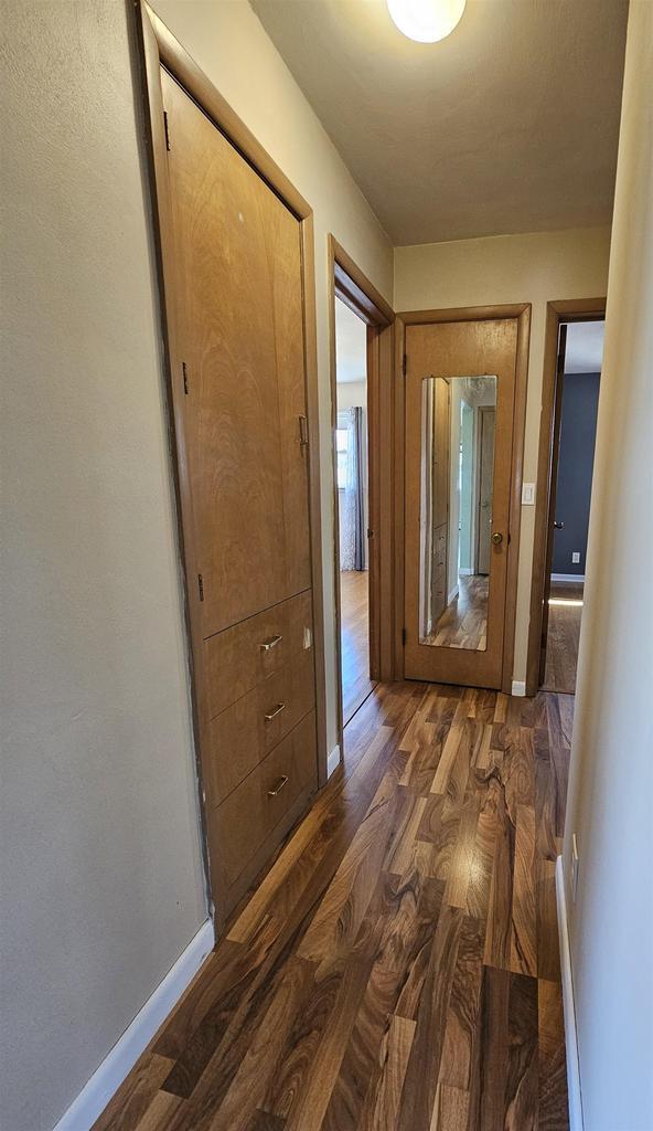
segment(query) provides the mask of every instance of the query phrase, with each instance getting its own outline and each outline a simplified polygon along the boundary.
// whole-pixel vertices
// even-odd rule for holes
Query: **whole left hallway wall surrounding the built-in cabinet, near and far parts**
[[[11,1131],[54,1125],[207,916],[130,10],[2,5]],[[392,251],[249,6],[160,10],[315,205],[331,585],[327,231],[389,297]]]

